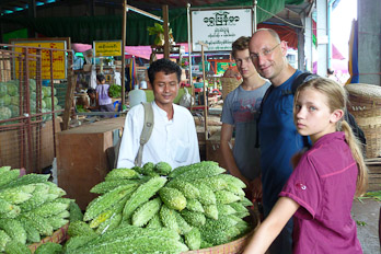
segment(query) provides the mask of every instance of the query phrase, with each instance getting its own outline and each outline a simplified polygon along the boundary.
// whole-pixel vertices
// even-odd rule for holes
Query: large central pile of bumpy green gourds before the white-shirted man
[[[204,161],[115,169],[91,192],[83,221],[69,226],[67,253],[181,253],[231,242],[251,230],[245,184]],[[86,222],[88,223],[86,223]]]

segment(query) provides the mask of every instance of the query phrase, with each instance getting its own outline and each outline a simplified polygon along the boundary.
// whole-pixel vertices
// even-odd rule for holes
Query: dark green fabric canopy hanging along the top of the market
[[[94,7],[104,7],[106,10],[113,10],[112,12],[115,14],[90,15],[89,13],[85,13],[84,15],[82,14],[74,16],[71,13],[57,11],[57,9],[73,9],[76,7],[81,7],[82,4],[82,10],[84,5],[84,10],[88,12],[89,2],[92,1]],[[31,18],[27,10],[27,3],[31,1],[1,0],[0,23],[5,25],[18,24],[19,26],[33,30],[35,33],[46,37],[71,37],[72,43],[91,44],[93,41],[122,38],[122,4],[124,0],[92,1],[35,0],[37,18]],[[169,21],[170,27],[173,31],[174,39],[176,43],[185,43],[187,42],[187,3],[190,3],[190,8],[247,8],[253,5],[253,0],[128,0],[127,3],[158,16],[162,16],[162,5],[169,5]],[[264,21],[273,22],[273,16],[277,14],[286,20],[290,19],[290,16],[298,18],[292,21],[293,23],[297,22],[299,25],[301,24],[299,18],[300,14],[302,12],[307,12],[312,3],[313,0],[258,0],[256,21],[257,23]],[[103,11],[102,13],[107,13],[107,11]],[[147,27],[153,26],[154,22],[157,21],[129,11],[127,13],[126,30],[127,45],[151,45],[153,42],[153,35],[148,34]],[[274,22],[278,24],[281,23],[280,20],[276,20]]]

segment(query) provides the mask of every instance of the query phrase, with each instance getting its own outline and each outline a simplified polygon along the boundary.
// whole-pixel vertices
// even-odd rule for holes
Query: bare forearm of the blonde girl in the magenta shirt
[[[299,204],[291,198],[280,197],[268,217],[254,232],[254,235],[243,253],[265,253],[298,208]]]

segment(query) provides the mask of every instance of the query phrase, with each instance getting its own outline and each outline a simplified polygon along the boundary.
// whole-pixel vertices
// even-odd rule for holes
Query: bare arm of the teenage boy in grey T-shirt
[[[246,184],[247,187],[250,187],[250,181],[241,174],[239,168],[236,166],[233,152],[230,148],[232,134],[233,126],[229,124],[222,124],[220,140],[222,157],[224,159],[224,162],[227,163],[227,170],[230,172],[230,174],[234,175],[235,177],[239,177]]]

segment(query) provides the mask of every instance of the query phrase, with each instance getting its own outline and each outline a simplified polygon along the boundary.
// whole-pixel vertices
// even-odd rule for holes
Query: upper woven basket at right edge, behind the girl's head
[[[348,111],[356,117],[381,116],[381,86],[374,84],[347,84]]]

